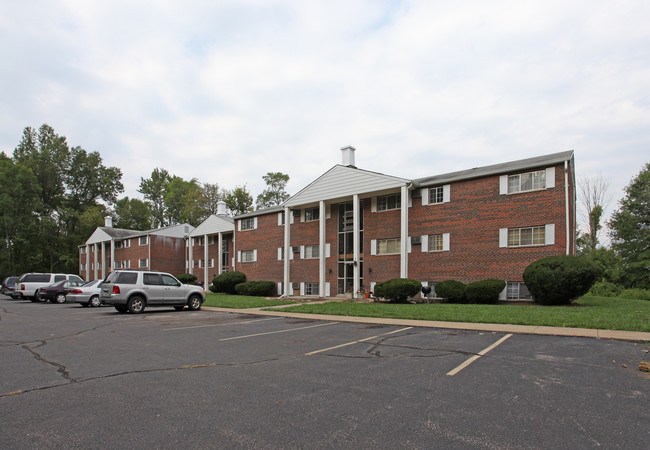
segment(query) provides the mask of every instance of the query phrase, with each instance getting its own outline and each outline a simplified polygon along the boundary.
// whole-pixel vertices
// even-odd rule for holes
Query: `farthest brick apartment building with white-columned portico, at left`
[[[160,270],[178,275],[188,266],[187,241],[194,227],[174,225],[148,231],[113,228],[106,217],[79,246],[79,275],[86,281],[105,278],[112,269]]]

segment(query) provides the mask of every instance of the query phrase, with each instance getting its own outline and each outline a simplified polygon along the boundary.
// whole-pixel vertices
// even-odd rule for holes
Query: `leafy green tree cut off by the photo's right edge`
[[[623,260],[623,283],[650,289],[650,163],[625,188],[609,227],[612,248]]]

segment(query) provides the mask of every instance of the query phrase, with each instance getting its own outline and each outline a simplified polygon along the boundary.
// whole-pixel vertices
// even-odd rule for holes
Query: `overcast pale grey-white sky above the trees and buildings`
[[[47,123],[124,174],[295,194],[354,146],[418,178],[565,150],[650,161],[650,2],[0,1],[0,150]]]

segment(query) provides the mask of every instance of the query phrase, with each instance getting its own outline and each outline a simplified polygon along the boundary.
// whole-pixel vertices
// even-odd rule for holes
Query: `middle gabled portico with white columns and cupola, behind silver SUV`
[[[200,283],[231,270],[235,221],[226,212],[226,204],[217,204],[217,214],[204,220],[190,233],[188,273]]]

